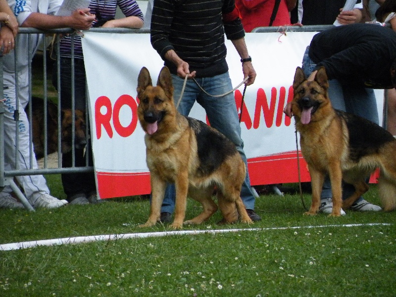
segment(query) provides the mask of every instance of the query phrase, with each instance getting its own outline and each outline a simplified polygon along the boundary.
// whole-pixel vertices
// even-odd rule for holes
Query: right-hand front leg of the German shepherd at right
[[[333,210],[329,216],[341,216],[341,205],[343,204],[343,172],[341,170],[341,163],[339,161],[333,162],[329,167],[331,191],[333,193]]]

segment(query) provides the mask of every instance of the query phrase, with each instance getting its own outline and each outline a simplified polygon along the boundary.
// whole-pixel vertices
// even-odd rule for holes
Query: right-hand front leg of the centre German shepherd
[[[187,170],[178,174],[175,181],[175,188],[175,220],[170,226],[173,229],[182,229],[184,217],[186,215],[187,193],[189,190],[189,178]]]

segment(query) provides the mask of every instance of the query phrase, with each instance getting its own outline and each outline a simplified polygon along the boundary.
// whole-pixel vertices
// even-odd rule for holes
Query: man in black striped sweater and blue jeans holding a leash
[[[210,125],[235,144],[247,166],[234,95],[216,98],[200,89],[211,95],[232,90],[225,36],[241,56],[243,74],[248,78],[245,84],[254,82],[256,72],[247,52],[239,15],[235,0],[154,0],[150,34],[152,47],[172,74],[174,98],[180,97],[184,78],[189,77],[179,112],[187,116],[197,101],[205,109]],[[253,221],[261,220],[253,211],[255,198],[248,173],[242,185],[241,198],[249,217]],[[174,203],[175,188],[171,185],[161,207],[162,222],[171,221]]]

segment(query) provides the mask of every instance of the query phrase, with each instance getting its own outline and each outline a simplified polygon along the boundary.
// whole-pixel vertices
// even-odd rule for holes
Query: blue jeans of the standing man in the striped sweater
[[[211,95],[220,95],[232,90],[232,83],[228,72],[214,77],[198,78],[196,81],[202,89]],[[174,86],[173,98],[175,104],[177,104],[183,88],[184,79],[172,74],[172,82]],[[223,133],[235,144],[247,168],[247,158],[244,152],[244,142],[241,138],[241,126],[234,94],[231,93],[220,98],[211,97],[206,95],[194,80],[189,79],[183,93],[183,98],[178,106],[179,112],[188,116],[195,101],[205,109],[210,126]],[[165,191],[161,212],[172,213],[175,208],[175,198],[175,186],[174,184],[169,184]],[[250,189],[248,173],[246,173],[245,181],[242,185],[241,198],[247,209],[254,209],[255,198]]]

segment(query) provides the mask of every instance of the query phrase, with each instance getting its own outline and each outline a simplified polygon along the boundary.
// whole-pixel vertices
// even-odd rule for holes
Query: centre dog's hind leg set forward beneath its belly
[[[204,190],[200,189],[189,189],[189,196],[194,200],[197,200],[199,203],[202,204],[203,210],[202,212],[196,216],[195,218],[185,221],[184,225],[198,225],[201,224],[203,221],[209,219],[216,211],[217,211],[217,204],[212,199],[213,195],[213,187],[208,187]]]

